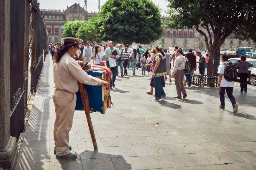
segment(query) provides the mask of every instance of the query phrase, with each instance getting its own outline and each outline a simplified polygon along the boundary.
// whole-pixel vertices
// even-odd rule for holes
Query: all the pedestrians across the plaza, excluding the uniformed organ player
[[[49,50],[51,55],[54,55],[54,50],[56,46],[54,44],[49,45]],[[196,57],[199,57],[197,61]],[[148,80],[150,81],[150,90],[146,92],[146,94],[153,95],[153,90],[155,88],[155,98],[151,99],[151,101],[160,101],[166,97],[163,87],[165,87],[165,79],[167,79],[167,75],[169,76],[169,82],[172,82],[172,78],[175,81],[175,86],[177,90],[177,96],[174,98],[182,99],[187,97],[187,92],[185,86],[188,85],[190,87],[192,85],[192,74],[197,70],[197,63],[198,63],[198,70],[200,75],[205,74],[205,70],[207,70],[208,74],[208,61],[209,61],[209,54],[203,56],[200,51],[193,52],[192,49],[189,49],[187,52],[182,51],[179,47],[174,47],[174,52],[172,55],[169,53],[168,49],[163,49],[161,45],[150,49],[143,49],[141,45],[139,48],[133,49],[131,45],[126,45],[123,47],[121,44],[118,44],[114,47],[113,41],[109,41],[107,45],[96,45],[91,46],[90,42],[80,43],[79,48],[77,49],[77,53],[74,55],[75,60],[81,60],[87,64],[91,65],[102,65],[110,68],[111,70],[111,81],[110,81],[110,89],[115,87],[115,79],[117,76],[124,77],[128,75],[129,69],[132,70],[132,75],[135,75],[136,70],[139,68],[141,69],[141,75],[145,76],[148,75]],[[224,57],[225,59],[225,57]],[[192,71],[186,72],[186,61],[189,62]],[[224,62],[225,60],[223,60]],[[244,60],[245,61],[245,60]],[[241,64],[238,67],[243,67],[243,65],[248,65],[248,63]],[[173,66],[173,70],[171,72],[171,68]],[[119,69],[120,67],[120,69]],[[223,66],[220,66],[219,72],[222,72],[221,69]],[[120,70],[120,72],[119,72]],[[147,71],[147,73],[146,73]],[[222,73],[220,73],[222,74]],[[246,77],[246,73],[240,71],[241,77]],[[221,87],[225,87],[225,78],[219,77],[219,85],[222,84]],[[246,79],[242,78],[241,80],[241,92],[243,89],[247,92],[247,83]],[[223,85],[224,84],[224,85]],[[233,86],[232,86],[233,87]],[[223,101],[223,92],[225,94],[224,88],[220,89],[220,109],[224,108],[224,101]],[[226,87],[228,97],[231,96],[230,88]],[[232,90],[233,91],[233,90]],[[234,101],[234,97],[230,97],[230,101],[232,102],[234,112],[237,111],[237,105]],[[235,106],[236,105],[236,106]]]

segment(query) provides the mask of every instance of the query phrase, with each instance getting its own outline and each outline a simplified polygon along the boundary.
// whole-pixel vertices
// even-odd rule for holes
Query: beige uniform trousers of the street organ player
[[[72,128],[77,95],[67,90],[55,89],[52,99],[56,113],[54,146],[56,147],[56,155],[63,156],[70,153],[69,130]]]

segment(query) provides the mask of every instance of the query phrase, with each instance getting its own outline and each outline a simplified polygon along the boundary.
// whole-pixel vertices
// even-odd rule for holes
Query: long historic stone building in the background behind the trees
[[[97,16],[96,12],[85,11],[79,4],[75,3],[74,5],[67,7],[66,10],[48,10],[41,9],[41,12],[44,14],[46,28],[49,32],[49,42],[60,42],[61,39],[61,25],[64,25],[68,21],[74,20],[90,20],[93,16]],[[167,16],[162,16],[162,20],[170,20],[171,18]],[[205,49],[206,43],[205,38],[200,35],[195,28],[183,28],[179,30],[173,30],[167,25],[163,25],[164,36],[161,37],[156,42],[153,42],[149,45],[143,45],[143,47],[156,47],[157,45],[162,45],[165,48],[169,47],[182,47],[187,48],[200,48]],[[213,37],[213,33],[212,38]],[[146,36],[146,32],[145,32]],[[105,42],[102,42],[105,44]],[[138,44],[137,44],[138,45]],[[233,34],[226,38],[225,42],[221,46],[221,49],[233,49],[234,47],[249,46],[256,48],[256,43],[253,43],[251,40],[242,41],[233,38]]]

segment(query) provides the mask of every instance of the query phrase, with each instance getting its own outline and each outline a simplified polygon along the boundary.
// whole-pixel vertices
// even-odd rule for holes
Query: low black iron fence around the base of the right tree
[[[199,87],[218,87],[218,77],[208,77],[207,75],[191,75],[192,84]]]

